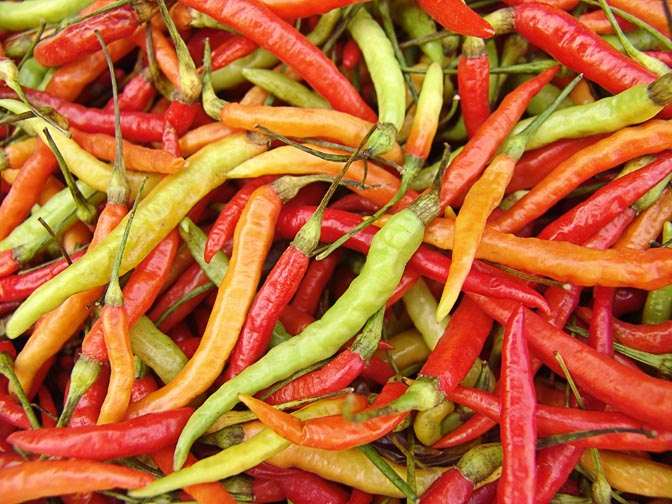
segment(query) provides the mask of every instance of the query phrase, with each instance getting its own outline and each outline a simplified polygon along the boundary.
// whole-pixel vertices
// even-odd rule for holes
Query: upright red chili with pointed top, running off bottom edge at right
[[[500,502],[534,502],[536,471],[536,394],[525,341],[522,305],[511,313],[502,344],[502,476]]]

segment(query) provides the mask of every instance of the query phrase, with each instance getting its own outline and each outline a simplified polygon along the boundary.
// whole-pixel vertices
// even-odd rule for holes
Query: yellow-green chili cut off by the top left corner
[[[92,0],[0,2],[0,30],[21,31],[37,28],[42,22],[58,23],[91,3]]]

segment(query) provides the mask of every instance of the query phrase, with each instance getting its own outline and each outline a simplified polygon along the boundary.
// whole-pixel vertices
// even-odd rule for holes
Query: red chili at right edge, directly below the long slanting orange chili
[[[568,240],[571,236],[574,243],[584,241],[663,180],[669,174],[669,159],[669,155],[663,153],[645,167],[611,181],[555,219],[539,232],[538,237]],[[590,215],[590,223],[587,215]]]

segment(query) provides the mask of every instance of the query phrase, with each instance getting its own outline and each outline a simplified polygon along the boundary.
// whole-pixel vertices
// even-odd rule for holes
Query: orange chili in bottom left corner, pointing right
[[[36,460],[0,471],[2,501],[25,502],[79,492],[140,488],[154,480],[146,472],[94,460]]]

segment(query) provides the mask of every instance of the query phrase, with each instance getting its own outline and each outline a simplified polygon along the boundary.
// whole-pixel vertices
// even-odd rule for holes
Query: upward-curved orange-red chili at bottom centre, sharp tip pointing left
[[[402,382],[388,382],[374,402],[362,412],[385,406],[401,396],[407,387]],[[300,420],[252,396],[240,394],[240,400],[250,408],[264,425],[294,444],[344,450],[380,439],[399,425],[408,411],[382,415],[362,422],[353,422],[343,415]]]

